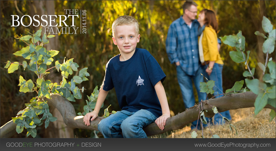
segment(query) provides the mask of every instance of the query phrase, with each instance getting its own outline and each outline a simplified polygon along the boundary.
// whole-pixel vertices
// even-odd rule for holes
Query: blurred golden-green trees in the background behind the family
[[[1,32],[1,126],[15,117],[17,112],[24,107],[33,97],[32,94],[19,92],[18,79],[22,75],[25,79],[34,79],[34,75],[20,68],[13,74],[8,74],[4,68],[7,60],[22,61],[20,57],[12,55],[14,52],[25,47],[26,44],[14,38],[16,34],[25,35],[27,31],[37,30],[34,26],[11,27],[11,15],[65,15],[64,9],[86,10],[87,33],[86,34],[56,34],[53,41],[47,46],[48,50],[60,51],[56,60],[63,62],[64,57],[74,58],[80,68],[88,67],[89,81],[79,87],[85,87],[82,99],[72,103],[76,112],[82,112],[85,105],[86,95],[93,92],[95,86],[100,86],[105,75],[105,64],[110,58],[119,54],[118,48],[112,41],[112,23],[121,15],[131,15],[140,24],[140,42],[138,48],[147,49],[158,61],[167,75],[163,83],[170,109],[177,114],[185,110],[181,91],[178,86],[176,70],[170,64],[165,48],[167,31],[172,21],[183,14],[182,5],[185,1],[0,1],[0,32]],[[255,66],[257,62],[264,62],[262,52],[263,39],[254,34],[262,31],[262,17],[266,16],[275,28],[275,1],[196,1],[198,12],[203,8],[214,10],[219,22],[218,37],[232,35],[241,30],[246,39],[246,50],[250,50],[250,67],[256,68],[259,78],[260,69]],[[80,11],[79,11],[80,13]],[[28,20],[25,20],[26,22]],[[67,19],[70,24],[72,20]],[[57,22],[59,22],[57,20]],[[27,25],[27,24],[26,24]],[[80,27],[80,19],[75,21],[76,27]],[[26,31],[25,31],[26,30]],[[264,33],[264,32],[263,32]],[[229,52],[232,47],[222,44],[220,55],[224,60],[223,88],[224,91],[231,88],[236,81],[244,79],[245,65],[234,63]],[[275,51],[271,54],[275,60]],[[48,78],[52,81],[61,81],[62,77],[56,76],[54,70]],[[78,74],[78,73],[76,73]],[[74,76],[74,75],[72,75]],[[196,94],[195,94],[196,95]],[[197,100],[198,101],[198,100]],[[115,90],[111,90],[107,96],[104,108],[111,104],[109,110],[120,110]],[[100,112],[103,114],[103,111]],[[101,116],[99,114],[99,116]],[[58,116],[58,115],[56,115]],[[59,121],[60,122],[60,121]],[[61,121],[62,122],[62,121]],[[50,125],[51,126],[51,123]],[[37,137],[90,137],[88,130],[75,129],[70,135],[63,135],[60,131],[66,131],[64,126],[56,126],[53,122],[52,132],[37,128]],[[59,135],[57,135],[59,134]],[[26,137],[25,133],[16,134],[14,137]]]

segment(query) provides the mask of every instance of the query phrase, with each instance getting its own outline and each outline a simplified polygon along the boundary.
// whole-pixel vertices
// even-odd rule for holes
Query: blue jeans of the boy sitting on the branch
[[[102,119],[98,130],[105,138],[148,138],[143,128],[155,120],[155,115],[148,110],[121,110]]]

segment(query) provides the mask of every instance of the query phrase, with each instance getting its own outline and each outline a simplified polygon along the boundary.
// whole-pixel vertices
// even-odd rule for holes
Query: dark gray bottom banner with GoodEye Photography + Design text
[[[275,138],[1,138],[1,151],[270,151]]]

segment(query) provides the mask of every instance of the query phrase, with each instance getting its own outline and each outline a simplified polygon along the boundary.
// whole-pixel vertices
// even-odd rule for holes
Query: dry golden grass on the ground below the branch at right
[[[210,126],[203,129],[204,138],[211,138],[212,134],[217,134],[220,138],[275,138],[275,118],[269,122],[270,109],[263,109],[257,116],[254,116],[254,107],[230,110],[232,125],[236,126],[236,135],[229,128],[229,124]],[[151,138],[191,138],[190,126],[180,130],[166,132],[165,134],[155,135]],[[212,133],[212,134],[211,134]],[[202,130],[197,130],[197,138],[201,138]]]

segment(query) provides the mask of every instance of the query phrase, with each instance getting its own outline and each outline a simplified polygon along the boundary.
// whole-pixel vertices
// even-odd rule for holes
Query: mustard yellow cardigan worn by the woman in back
[[[202,48],[205,61],[215,61],[217,64],[223,64],[217,48],[217,33],[212,26],[206,26],[203,31]]]

